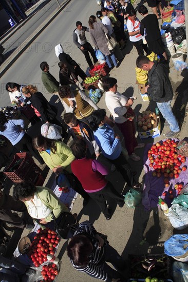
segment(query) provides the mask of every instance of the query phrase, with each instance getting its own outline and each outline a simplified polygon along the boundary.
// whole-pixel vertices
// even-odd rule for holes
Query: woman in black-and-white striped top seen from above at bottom
[[[126,280],[123,275],[126,262],[109,245],[106,237],[98,233],[90,221],[86,220],[74,232],[67,247],[67,255],[72,266],[78,271],[106,282],[123,282]],[[106,263],[111,263],[116,270]]]

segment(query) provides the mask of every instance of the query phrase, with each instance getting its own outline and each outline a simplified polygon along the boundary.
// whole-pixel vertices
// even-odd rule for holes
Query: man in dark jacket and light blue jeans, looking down
[[[172,111],[171,102],[173,89],[168,77],[167,69],[163,64],[150,61],[146,56],[140,55],[136,61],[137,68],[148,71],[148,85],[145,92],[157,102],[159,111],[166,119],[164,125],[170,125],[170,131],[165,134],[167,138],[173,137],[180,132],[177,119]]]

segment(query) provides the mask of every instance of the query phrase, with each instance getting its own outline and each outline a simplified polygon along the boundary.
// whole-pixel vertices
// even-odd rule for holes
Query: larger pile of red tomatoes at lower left
[[[49,228],[44,230],[40,228],[37,230],[37,233],[28,252],[28,256],[31,258],[35,267],[39,267],[47,261],[48,254],[54,255],[55,248],[60,243],[60,237],[58,237],[55,231]]]

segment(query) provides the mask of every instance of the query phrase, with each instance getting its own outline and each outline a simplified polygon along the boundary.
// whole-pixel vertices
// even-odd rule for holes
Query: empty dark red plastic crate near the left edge
[[[15,163],[22,159],[18,168],[10,171]],[[42,173],[42,170],[34,163],[34,160],[27,153],[17,153],[14,155],[13,161],[10,166],[4,171],[4,173],[14,183],[19,183],[24,180],[35,182],[36,178]]]

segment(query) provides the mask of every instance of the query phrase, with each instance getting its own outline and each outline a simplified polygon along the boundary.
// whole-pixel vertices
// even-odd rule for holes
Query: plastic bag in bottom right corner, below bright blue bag
[[[174,281],[188,282],[188,265],[175,261],[172,265],[172,276]]]

